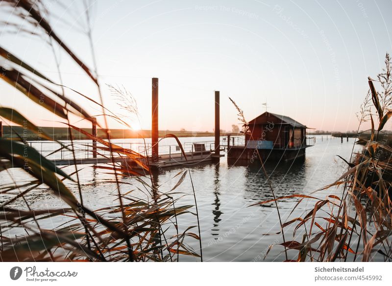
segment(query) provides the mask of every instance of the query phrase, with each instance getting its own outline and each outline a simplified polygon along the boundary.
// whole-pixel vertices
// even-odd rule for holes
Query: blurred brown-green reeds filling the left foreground
[[[71,165],[74,166],[74,171],[70,174],[56,167],[30,146],[22,134],[17,134],[17,138],[0,139],[1,171],[7,172],[13,180],[12,183],[3,185],[0,191],[0,261],[178,261],[180,255],[202,259],[198,217],[196,226],[185,226],[186,229],[182,232],[179,231],[177,222],[180,215],[197,215],[197,208],[196,214],[192,211],[195,206],[181,205],[181,198],[187,194],[174,192],[186,176],[191,179],[190,172],[180,172],[181,177],[175,187],[169,192],[161,191],[162,186],[157,186],[151,176],[147,155],[111,142],[107,119],[115,119],[127,128],[130,124],[127,119],[108,110],[103,103],[93,45],[90,48],[94,69],[91,70],[77,56],[77,51],[72,50],[54,31],[46,17],[50,11],[46,10],[41,1],[7,0],[3,1],[1,6],[12,9],[15,15],[27,20],[24,22],[27,23],[26,26],[19,28],[26,32],[38,28],[43,32],[43,40],[49,39],[50,45],[56,45],[68,55],[95,84],[99,100],[65,86],[61,82],[59,65],[57,67],[60,82],[56,82],[14,55],[12,51],[0,47],[0,56],[8,62],[7,66],[0,67],[3,71],[1,79],[24,94],[26,100],[32,100],[33,104],[60,117],[69,130],[71,140],[56,141],[50,134],[42,133],[42,130],[29,120],[29,115],[25,116],[13,108],[0,106],[0,116],[24,126],[46,140],[59,143],[61,147],[55,152],[71,152]],[[89,23],[87,8],[86,18]],[[92,44],[91,28],[87,29],[87,36]],[[112,92],[123,94],[123,90],[111,87]],[[70,115],[88,121],[92,121],[94,116],[77,100],[72,100],[69,93],[89,100],[96,109],[102,110],[98,116],[103,117],[105,124],[98,125],[104,130],[104,138],[108,140],[95,137],[71,124]],[[129,94],[125,92],[124,95]],[[136,102],[127,101],[126,104],[131,108],[128,112],[137,111]],[[103,183],[109,184],[113,187],[112,191],[117,192],[114,195],[116,203],[98,210],[86,206],[83,185],[78,175],[80,169],[76,164],[78,145],[73,140],[73,132],[96,140],[98,155],[111,160],[110,164],[97,164],[94,167],[105,170],[110,175],[111,179],[106,179]],[[167,137],[173,137],[179,143],[176,136]],[[182,149],[180,143],[179,145]],[[122,166],[113,160],[115,157],[122,157],[129,164]],[[27,182],[18,183],[20,180],[17,176],[21,174],[14,176],[11,168],[19,168]],[[131,181],[125,179],[129,176],[133,178]],[[54,194],[64,207],[34,208],[34,198],[41,193]],[[195,196],[194,190],[193,195]],[[51,229],[42,227],[41,222],[60,216],[62,221],[65,220],[63,224]],[[195,227],[198,227],[198,235],[192,232]],[[200,254],[192,249],[185,238],[199,241]]]

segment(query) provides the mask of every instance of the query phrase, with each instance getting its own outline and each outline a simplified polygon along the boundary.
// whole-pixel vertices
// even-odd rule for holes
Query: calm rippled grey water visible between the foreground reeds
[[[212,141],[213,138],[182,138],[182,142]],[[306,158],[302,162],[268,165],[272,187],[276,196],[294,193],[309,194],[329,183],[334,182],[346,169],[345,163],[336,155],[349,160],[354,139],[341,139],[316,136],[316,144],[307,148]],[[169,142],[170,144],[172,142]],[[354,152],[362,147],[356,145]],[[91,166],[79,166],[83,182],[84,200],[92,209],[114,204],[113,194],[115,186],[104,183],[111,178],[105,171],[98,171]],[[161,191],[169,191],[176,184],[178,177],[172,179],[183,167],[164,169],[157,177],[158,184],[162,184]],[[24,173],[12,169],[15,177],[21,182],[25,179]],[[74,167],[66,167],[72,172]],[[191,168],[195,185],[198,211],[200,216],[201,236],[203,244],[203,257],[205,261],[263,261],[270,244],[282,242],[278,216],[274,203],[263,206],[248,207],[259,201],[271,198],[270,189],[266,183],[264,173],[260,166],[229,166],[226,157],[222,157],[219,164],[203,164]],[[132,178],[124,178],[126,182],[135,183]],[[0,173],[1,185],[9,182],[4,172]],[[76,192],[76,188],[71,186]],[[131,187],[123,188],[130,191]],[[189,177],[176,189],[176,191],[190,193],[191,183]],[[315,194],[319,198],[339,192],[331,189],[319,191]],[[31,194],[34,203],[32,207],[55,208],[62,206],[58,198],[43,190]],[[135,195],[135,194],[134,194]],[[6,199],[1,197],[1,199]],[[181,199],[182,205],[194,204],[193,196],[188,195]],[[282,220],[286,221],[297,199],[288,199],[279,202]],[[23,205],[23,202],[18,202]],[[311,202],[304,200],[290,216],[297,217],[312,208]],[[61,217],[47,221],[44,227],[55,227],[63,222]],[[196,217],[192,215],[179,217],[182,229],[196,224]],[[194,230],[196,233],[196,229]],[[286,240],[293,240],[292,232],[286,233]],[[301,241],[302,238],[296,238]],[[198,244],[189,238],[188,243],[195,250]],[[270,250],[265,261],[283,261],[283,247],[275,245]],[[296,251],[291,253],[295,259]],[[290,253],[289,253],[290,255]],[[194,261],[192,257],[182,257],[181,261]]]

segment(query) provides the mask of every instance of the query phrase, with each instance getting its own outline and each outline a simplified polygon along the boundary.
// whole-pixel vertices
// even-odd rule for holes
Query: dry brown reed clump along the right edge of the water
[[[347,171],[340,178],[311,194],[298,193],[254,204],[300,198],[293,213],[304,199],[311,202],[313,207],[304,215],[283,223],[284,229],[294,228],[293,238],[280,243],[289,250],[291,257],[286,261],[391,261],[392,148],[382,133],[392,116],[391,71],[387,53],[385,69],[377,80],[368,78],[369,92],[359,114],[358,131],[363,122],[370,120],[370,136],[362,139],[362,152],[352,152],[350,161],[342,158]],[[330,194],[319,198],[321,190]]]

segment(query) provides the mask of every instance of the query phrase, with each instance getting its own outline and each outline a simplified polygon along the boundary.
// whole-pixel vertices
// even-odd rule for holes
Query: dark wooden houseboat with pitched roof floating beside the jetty
[[[245,146],[233,146],[228,150],[231,161],[256,161],[257,153],[263,160],[286,161],[305,155],[306,126],[290,117],[265,112],[248,122]]]

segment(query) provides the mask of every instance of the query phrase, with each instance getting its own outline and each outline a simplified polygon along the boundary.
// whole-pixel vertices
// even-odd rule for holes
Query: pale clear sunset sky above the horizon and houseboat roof
[[[93,67],[90,44],[81,31],[86,21],[81,1],[45,3],[54,30]],[[230,96],[248,121],[265,112],[267,102],[271,113],[308,127],[356,130],[367,78],[376,77],[385,53],[392,51],[392,1],[386,0],[90,4],[104,104],[126,116],[107,84],[126,89],[138,105],[139,119],[127,119],[136,129],[151,127],[151,78],[158,77],[160,130],[212,131],[214,91],[221,95],[221,129],[240,123]],[[1,18],[11,22],[13,16],[2,11]],[[10,26],[0,30],[1,46],[58,81],[53,50],[43,38]],[[98,99],[95,86],[69,56],[57,47],[54,52],[64,84]],[[59,118],[7,83],[0,82],[0,91],[1,105],[28,115],[38,125],[62,126]],[[93,115],[101,114],[90,102],[68,93]],[[121,128],[112,121],[110,127]]]

